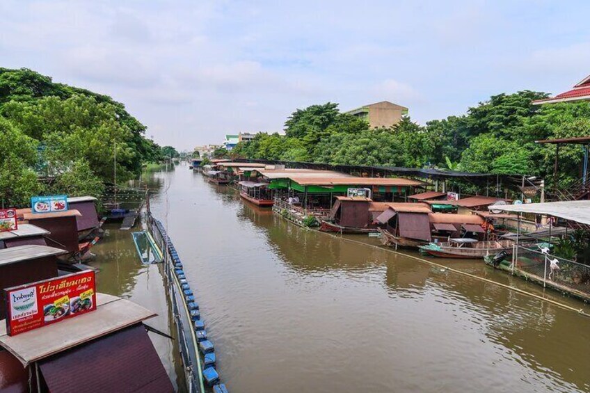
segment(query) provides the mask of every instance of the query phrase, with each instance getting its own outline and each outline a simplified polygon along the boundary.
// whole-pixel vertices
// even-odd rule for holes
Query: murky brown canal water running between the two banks
[[[155,179],[169,186],[168,216],[166,186],[152,211],[168,223],[232,392],[590,392],[588,318],[304,230],[186,166]],[[103,270],[100,287],[161,310],[158,267],[131,259]],[[542,294],[483,262],[436,262]]]

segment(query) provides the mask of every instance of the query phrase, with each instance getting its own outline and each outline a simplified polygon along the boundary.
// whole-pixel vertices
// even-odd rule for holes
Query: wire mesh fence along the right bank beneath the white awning
[[[590,298],[590,266],[550,255],[548,248],[515,246],[512,269],[561,291]]]

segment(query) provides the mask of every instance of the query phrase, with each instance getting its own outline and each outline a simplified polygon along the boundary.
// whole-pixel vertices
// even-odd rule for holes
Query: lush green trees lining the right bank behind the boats
[[[351,165],[436,167],[475,173],[536,175],[550,185],[567,186],[580,177],[580,146],[559,152],[539,139],[586,136],[590,103],[534,105],[545,93],[500,94],[465,115],[417,125],[409,117],[391,128],[369,129],[367,122],[340,113],[337,104],[297,109],[285,122],[285,135],[257,134],[232,154],[251,159],[313,161]]]

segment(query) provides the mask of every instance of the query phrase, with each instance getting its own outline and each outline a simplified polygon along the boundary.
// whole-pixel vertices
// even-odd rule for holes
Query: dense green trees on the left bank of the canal
[[[145,129],[111,97],[0,68],[0,198],[21,206],[45,191],[99,197],[115,155],[119,180],[162,158]]]

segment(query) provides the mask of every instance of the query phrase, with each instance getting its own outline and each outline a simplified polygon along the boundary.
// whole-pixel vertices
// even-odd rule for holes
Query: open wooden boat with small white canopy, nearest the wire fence
[[[477,241],[475,239],[450,239],[443,243],[429,243],[421,246],[420,250],[433,257],[442,258],[466,258],[466,259],[483,259],[486,255],[496,255],[504,250],[511,250],[513,241],[486,240]]]

